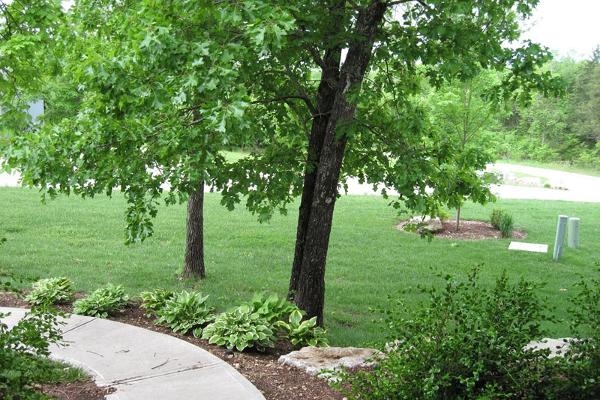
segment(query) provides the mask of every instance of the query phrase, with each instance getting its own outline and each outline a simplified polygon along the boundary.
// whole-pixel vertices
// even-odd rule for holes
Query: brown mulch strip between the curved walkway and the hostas
[[[29,307],[25,301],[12,293],[0,293],[0,306]],[[70,307],[60,308],[65,312],[70,311]],[[278,344],[275,349],[267,353],[231,352],[222,347],[210,345],[206,340],[191,335],[179,335],[168,328],[154,325],[153,320],[145,317],[143,310],[137,304],[130,305],[126,310],[110,319],[175,336],[209,351],[236,368],[263,393],[266,400],[341,400],[344,398],[334,391],[326,380],[308,375],[297,368],[279,364],[277,361],[279,356],[291,351],[283,344]],[[77,385],[77,383],[73,385]],[[64,387],[61,388],[61,390],[64,389]],[[81,389],[84,388],[81,387]],[[63,400],[103,398],[61,396],[62,394],[59,394],[57,397]]]

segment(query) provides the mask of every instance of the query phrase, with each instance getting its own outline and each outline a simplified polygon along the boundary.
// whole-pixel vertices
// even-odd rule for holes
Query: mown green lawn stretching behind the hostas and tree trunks
[[[206,196],[206,265],[203,281],[181,282],[185,206],[162,208],[154,237],[142,244],[123,244],[121,197],[113,199],[60,197],[46,205],[36,191],[0,189],[0,268],[29,278],[67,276],[77,290],[91,291],[109,282],[122,284],[136,295],[156,287],[194,287],[211,295],[224,310],[256,291],[284,295],[288,285],[296,229],[296,209],[260,224],[243,209],[228,212],[218,194]],[[579,216],[579,250],[567,249],[559,263],[551,255],[508,252],[509,240],[431,243],[400,232],[395,210],[378,197],[344,196],[336,206],[327,263],[325,322],[333,344],[360,345],[380,338],[372,323],[371,307],[387,304],[387,296],[408,290],[409,307],[422,300],[416,286],[440,284],[438,273],[464,277],[482,265],[482,279],[492,283],[503,270],[516,280],[547,282],[541,294],[568,315],[568,296],[578,274],[598,273],[600,262],[600,205],[549,201],[502,201],[516,225],[529,233],[527,241],[551,244],[556,216]],[[493,205],[465,206],[467,219],[487,219]],[[566,289],[566,290],[564,290]],[[549,326],[558,337],[566,324]]]

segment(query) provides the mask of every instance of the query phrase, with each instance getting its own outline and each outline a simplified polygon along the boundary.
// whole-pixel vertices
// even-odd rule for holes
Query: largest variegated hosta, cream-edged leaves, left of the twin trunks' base
[[[204,328],[202,338],[210,344],[244,351],[255,348],[264,351],[274,346],[275,333],[269,321],[252,312],[248,305],[241,305],[230,312],[220,314],[215,322]]]

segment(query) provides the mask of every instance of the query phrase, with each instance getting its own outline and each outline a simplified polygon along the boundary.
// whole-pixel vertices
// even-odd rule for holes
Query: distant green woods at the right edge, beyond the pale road
[[[565,95],[538,95],[529,107],[498,115],[497,157],[600,168],[600,47],[590,60],[559,59],[547,68],[562,77]]]

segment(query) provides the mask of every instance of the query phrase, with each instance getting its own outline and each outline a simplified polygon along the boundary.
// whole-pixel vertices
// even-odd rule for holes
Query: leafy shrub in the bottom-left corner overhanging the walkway
[[[53,372],[53,364],[44,357],[48,346],[61,340],[56,317],[54,311],[34,308],[12,329],[0,322],[0,398],[41,398],[34,384]]]

